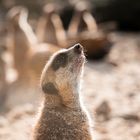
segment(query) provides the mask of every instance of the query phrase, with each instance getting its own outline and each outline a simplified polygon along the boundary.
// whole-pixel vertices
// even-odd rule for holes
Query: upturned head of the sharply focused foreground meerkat
[[[85,62],[83,47],[76,44],[56,52],[41,75],[41,88],[45,94],[73,100],[78,94],[82,67]]]

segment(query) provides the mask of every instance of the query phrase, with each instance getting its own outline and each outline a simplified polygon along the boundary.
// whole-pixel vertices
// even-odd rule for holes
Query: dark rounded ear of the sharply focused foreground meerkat
[[[55,87],[55,85],[52,82],[46,83],[42,86],[42,90],[44,93],[57,95],[58,89]]]

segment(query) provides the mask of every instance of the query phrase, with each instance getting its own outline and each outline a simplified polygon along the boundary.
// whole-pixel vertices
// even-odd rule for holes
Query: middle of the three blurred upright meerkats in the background
[[[44,7],[44,15],[38,22],[37,36],[41,42],[64,47],[66,45],[66,33],[56,9],[57,7],[53,4]]]

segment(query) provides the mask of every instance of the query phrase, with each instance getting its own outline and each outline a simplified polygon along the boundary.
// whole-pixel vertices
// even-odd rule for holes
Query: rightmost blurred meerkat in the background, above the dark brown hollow
[[[86,30],[89,32],[97,32],[98,26],[96,20],[89,11],[89,6],[85,2],[78,2],[75,7],[75,14],[68,28],[68,35],[77,35]]]

